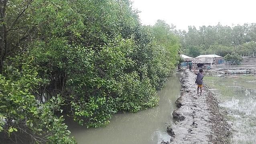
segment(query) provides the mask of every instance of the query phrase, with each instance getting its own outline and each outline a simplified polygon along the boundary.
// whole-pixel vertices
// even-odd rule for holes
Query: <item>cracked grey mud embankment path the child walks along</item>
[[[181,79],[181,96],[177,99],[177,110],[173,112],[175,125],[169,126],[173,144],[227,144],[230,142],[230,126],[213,93],[203,87],[202,95],[197,94],[196,75],[184,72]]]

